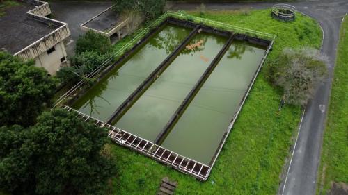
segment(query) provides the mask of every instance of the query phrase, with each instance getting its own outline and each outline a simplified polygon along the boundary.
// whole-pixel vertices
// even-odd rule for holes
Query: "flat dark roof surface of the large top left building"
[[[6,9],[6,15],[0,17],[0,51],[6,49],[15,54],[58,28],[28,17],[26,12],[33,8],[22,3]]]

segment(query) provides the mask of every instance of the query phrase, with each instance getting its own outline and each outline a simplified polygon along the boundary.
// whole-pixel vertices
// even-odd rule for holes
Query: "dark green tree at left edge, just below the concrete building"
[[[29,126],[49,103],[56,80],[34,61],[0,52],[0,126]]]

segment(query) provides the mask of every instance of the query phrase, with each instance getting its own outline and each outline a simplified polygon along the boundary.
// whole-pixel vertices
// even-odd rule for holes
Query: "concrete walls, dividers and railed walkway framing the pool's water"
[[[193,21],[191,21],[192,18],[193,18]],[[163,19],[164,21],[162,21]],[[186,19],[186,20],[182,20],[182,19]],[[147,155],[150,158],[157,160],[158,162],[161,162],[163,164],[168,164],[174,169],[177,169],[178,171],[181,171],[182,173],[188,173],[191,176],[198,178],[199,180],[207,180],[207,177],[209,176],[209,173],[214,163],[216,162],[216,158],[219,155],[228,134],[230,133],[230,129],[232,128],[232,125],[234,124],[239,111],[242,109],[242,105],[244,104],[246,96],[248,96],[248,92],[251,90],[251,86],[253,85],[253,82],[255,81],[255,78],[258,75],[260,68],[262,67],[264,59],[266,58],[267,54],[269,53],[269,50],[271,49],[271,46],[274,42],[275,37],[267,33],[260,33],[260,32],[248,30],[245,28],[230,26],[228,24],[212,22],[207,19],[200,19],[200,18],[191,17],[191,16],[188,17],[186,15],[169,12],[169,13],[166,13],[164,16],[160,17],[160,19],[157,22],[155,22],[155,24],[152,24],[151,26],[152,31],[150,31],[150,27],[148,27],[142,33],[140,33],[139,35],[143,35],[144,36],[143,38],[138,40],[139,36],[136,36],[134,40],[129,42],[129,44],[127,44],[124,48],[120,49],[120,51],[118,51],[118,53],[116,54],[116,56],[122,55],[120,56],[120,58],[116,58],[116,56],[114,56],[113,58],[109,58],[108,60],[106,60],[106,62],[100,65],[100,67],[97,67],[97,69],[95,69],[92,73],[88,74],[86,77],[97,78],[97,80],[101,80],[103,76],[105,76],[107,71],[120,65],[122,60],[125,60],[126,58],[125,56],[131,55],[132,52],[134,52],[137,48],[139,48],[139,46],[141,46],[144,40],[147,40],[151,34],[156,33],[158,26],[162,26],[166,22],[189,27],[189,28],[192,28],[193,30],[191,31],[190,35],[188,35],[187,38],[184,41],[182,41],[182,44],[177,46],[175,51],[173,51],[173,53],[171,53],[171,55],[169,55],[166,58],[166,60],[164,60],[164,62],[162,62],[161,65],[159,65],[159,67],[155,69],[155,71],[152,71],[152,74],[150,74],[150,76],[148,76],[148,78],[146,78],[143,81],[143,83],[132,93],[132,95],[129,96],[127,100],[123,102],[119,108],[116,109],[115,112],[113,112],[113,115],[111,115],[111,117],[109,117],[109,119],[106,122],[101,121],[99,119],[95,119],[95,117],[90,117],[89,115],[86,115],[68,106],[69,103],[72,103],[74,100],[78,99],[81,96],[81,94],[83,94],[84,92],[88,90],[88,85],[84,85],[85,84],[84,80],[81,80],[79,83],[77,83],[77,85],[72,87],[71,90],[69,90],[67,93],[61,96],[61,98],[58,99],[58,101],[56,101],[54,107],[60,106],[61,108],[64,108],[68,112],[77,112],[77,115],[79,115],[81,119],[84,119],[84,121],[93,122],[95,126],[100,126],[102,128],[108,129],[109,137],[113,139],[113,141],[116,142],[117,144],[126,146],[129,149],[134,149],[135,151],[139,151],[140,153]],[[214,27],[211,27],[210,25]],[[129,106],[132,105],[132,103],[136,101],[136,99],[138,99],[139,96],[141,96],[141,94],[143,94],[143,92],[148,88],[148,86],[150,86],[155,80],[155,78],[157,78],[159,74],[161,74],[161,72],[163,72],[166,69],[166,67],[168,67],[168,65],[171,63],[173,58],[175,58],[175,56],[177,55],[177,53],[182,51],[184,46],[189,42],[189,40],[191,40],[191,37],[193,37],[198,31],[207,31],[209,33],[214,33],[217,35],[223,35],[224,37],[228,37],[228,41],[224,44],[221,51],[219,51],[219,53],[215,56],[214,60],[211,62],[209,67],[207,67],[207,69],[205,70],[204,74],[200,76],[200,79],[197,81],[196,85],[194,85],[193,88],[191,89],[191,92],[187,94],[186,98],[184,99],[184,101],[182,101],[179,108],[177,108],[176,112],[168,121],[167,125],[164,127],[161,133],[159,133],[155,142],[150,142],[147,139],[143,139],[125,130],[112,126],[110,124],[111,121],[115,121],[116,119],[118,119],[120,115],[122,115],[122,113],[125,112],[129,108]],[[226,130],[226,133],[223,135],[223,138],[221,139],[219,147],[216,149],[216,153],[214,155],[214,158],[212,159],[212,162],[210,162],[209,165],[203,164],[191,158],[187,158],[184,155],[180,155],[178,153],[175,153],[174,151],[171,151],[162,146],[159,146],[158,144],[161,142],[161,140],[163,140],[163,137],[165,137],[166,133],[168,133],[168,131],[171,130],[171,128],[173,127],[173,124],[175,124],[175,121],[177,121],[177,119],[180,118],[180,116],[182,115],[182,112],[184,112],[187,105],[191,102],[192,96],[194,96],[194,94],[196,94],[198,90],[200,90],[200,87],[203,85],[203,83],[205,83],[205,80],[207,80],[207,77],[209,76],[209,74],[212,73],[212,71],[214,70],[214,67],[216,67],[216,65],[219,63],[219,60],[221,60],[221,57],[224,55],[224,53],[226,53],[232,40],[245,40],[252,44],[258,44],[260,46],[264,46],[265,48],[267,48],[267,50],[265,52],[264,57],[262,58],[262,62],[260,62],[260,65],[258,66],[258,70],[253,75],[252,82],[250,83],[250,85],[248,85],[246,93],[244,94],[242,102],[239,104],[239,108],[236,114],[233,116],[232,121],[230,122],[230,125],[228,126],[228,130]],[[130,46],[132,46],[132,49],[130,49],[129,51],[126,51],[126,49],[129,49]],[[65,105],[65,104],[68,104],[68,105]]]

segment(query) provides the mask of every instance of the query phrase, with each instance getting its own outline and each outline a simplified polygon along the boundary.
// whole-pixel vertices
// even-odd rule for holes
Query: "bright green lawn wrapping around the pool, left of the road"
[[[196,12],[191,14],[198,16]],[[313,19],[300,14],[295,22],[278,22],[270,17],[270,10],[248,14],[208,12],[204,17],[277,36],[212,173],[207,181],[200,182],[113,144],[118,173],[111,183],[110,194],[156,194],[165,176],[177,180],[175,194],[276,194],[292,137],[297,132],[301,108],[286,105],[280,115],[276,115],[282,91],[267,81],[267,65],[285,47],[319,49],[322,31]]]

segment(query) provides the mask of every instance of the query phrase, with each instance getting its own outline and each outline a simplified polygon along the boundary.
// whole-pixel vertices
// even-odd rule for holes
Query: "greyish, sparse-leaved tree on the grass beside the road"
[[[285,101],[305,105],[326,76],[326,58],[311,48],[284,49],[272,63],[271,80],[283,87]]]

